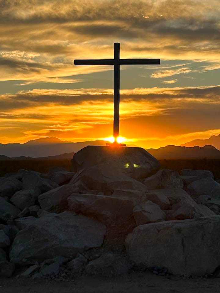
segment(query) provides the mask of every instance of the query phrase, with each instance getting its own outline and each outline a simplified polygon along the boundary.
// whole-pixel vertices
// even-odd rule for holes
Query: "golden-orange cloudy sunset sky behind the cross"
[[[160,58],[121,66],[120,135],[145,148],[220,133],[219,0],[0,0],[0,143],[112,136],[113,67],[74,59]]]

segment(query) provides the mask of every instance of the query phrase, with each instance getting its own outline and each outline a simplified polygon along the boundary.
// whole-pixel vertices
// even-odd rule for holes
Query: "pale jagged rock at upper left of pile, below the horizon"
[[[58,187],[56,182],[42,178],[40,173],[35,171],[25,171],[22,177],[23,189],[31,189],[33,186],[39,188],[41,192],[46,192]]]

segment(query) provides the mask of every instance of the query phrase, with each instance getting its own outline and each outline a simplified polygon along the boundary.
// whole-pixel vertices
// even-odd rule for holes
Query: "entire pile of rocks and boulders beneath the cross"
[[[72,165],[0,178],[0,276],[203,276],[220,266],[220,184],[210,171],[159,170],[126,147],[86,147]]]

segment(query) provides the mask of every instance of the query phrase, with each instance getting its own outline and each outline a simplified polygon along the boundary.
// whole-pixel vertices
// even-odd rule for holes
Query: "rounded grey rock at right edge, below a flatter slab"
[[[190,183],[187,189],[195,197],[208,195],[211,198],[220,199],[220,184],[210,176]]]

